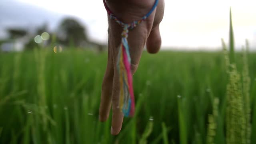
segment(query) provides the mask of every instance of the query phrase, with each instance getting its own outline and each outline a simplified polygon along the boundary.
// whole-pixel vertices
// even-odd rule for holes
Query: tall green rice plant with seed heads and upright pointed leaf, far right
[[[230,53],[222,40],[226,69],[229,74],[227,85],[227,108],[226,108],[226,142],[227,144],[250,144],[250,78],[248,76],[247,52],[249,51],[246,41],[246,50],[243,48],[242,76],[237,70],[234,58],[234,35],[230,9]],[[229,59],[230,58],[230,59]]]

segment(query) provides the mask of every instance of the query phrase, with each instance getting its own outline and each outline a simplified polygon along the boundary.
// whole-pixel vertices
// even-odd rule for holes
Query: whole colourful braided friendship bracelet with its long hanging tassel
[[[136,20],[130,24],[126,24],[120,21],[107,7],[105,0],[103,0],[104,6],[110,19],[115,20],[116,23],[120,24],[123,27],[122,42],[120,44],[120,49],[118,52],[118,61],[117,68],[119,74],[119,82],[120,82],[120,98],[119,98],[119,108],[123,112],[124,116],[134,116],[135,111],[135,103],[134,103],[134,93],[132,87],[132,73],[131,73],[131,58],[128,46],[128,32],[129,30],[135,28],[142,21],[146,20],[148,16],[154,11],[158,4],[158,0],[155,1],[154,6],[145,16],[143,16],[140,20]]]

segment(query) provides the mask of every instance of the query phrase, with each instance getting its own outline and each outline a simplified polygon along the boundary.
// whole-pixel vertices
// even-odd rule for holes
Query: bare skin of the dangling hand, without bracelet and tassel
[[[108,8],[124,23],[140,20],[147,14],[155,0],[106,0]],[[146,45],[149,53],[155,54],[161,46],[159,24],[164,16],[164,0],[159,0],[152,14],[133,30],[129,30],[128,44],[131,57],[131,71],[134,74],[138,68],[140,57]],[[111,134],[119,134],[124,115],[119,105],[119,76],[116,67],[117,55],[121,44],[122,27],[108,16],[108,62],[102,82],[100,102],[100,121],[108,119],[112,106]]]

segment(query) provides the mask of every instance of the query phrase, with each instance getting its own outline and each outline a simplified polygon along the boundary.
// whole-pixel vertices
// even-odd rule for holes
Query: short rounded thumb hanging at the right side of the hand
[[[151,54],[155,54],[160,50],[161,36],[159,31],[159,24],[151,30],[150,35],[147,39],[147,51]]]

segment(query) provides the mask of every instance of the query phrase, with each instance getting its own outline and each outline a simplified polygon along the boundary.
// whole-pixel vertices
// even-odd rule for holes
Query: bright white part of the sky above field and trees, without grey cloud
[[[88,28],[91,40],[107,42],[108,24],[102,0],[6,0],[7,3],[10,1],[13,2],[12,4],[33,6],[34,11],[42,9],[52,12],[48,20],[51,28],[57,26],[60,17],[75,16]],[[160,24],[162,47],[187,50],[220,49],[221,38],[228,42],[231,6],[237,49],[244,45],[245,39],[248,39],[251,47],[256,49],[256,2],[254,1],[165,0],[164,19]]]

